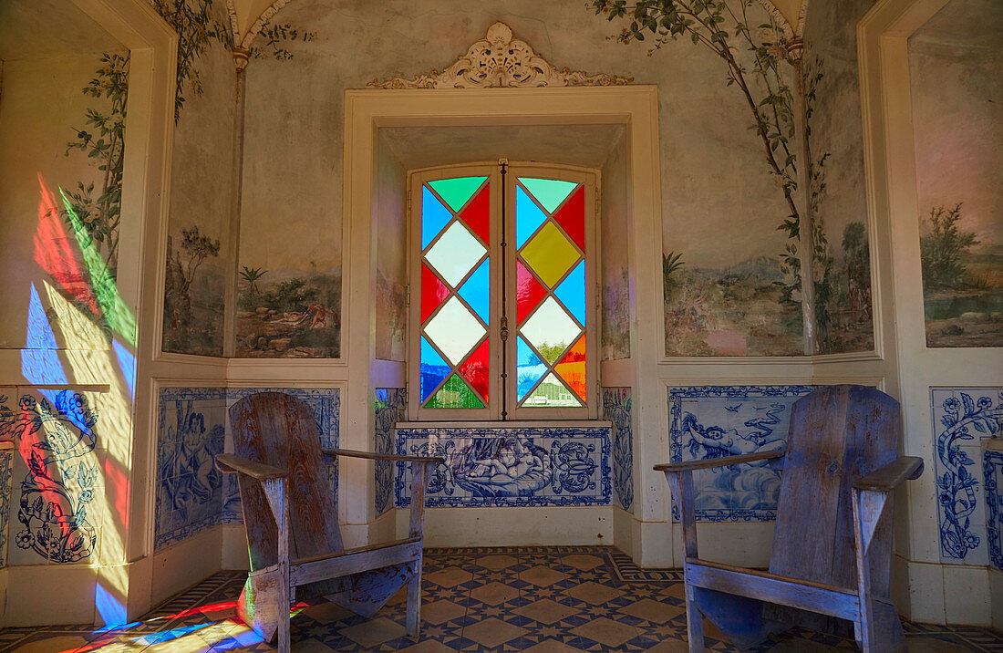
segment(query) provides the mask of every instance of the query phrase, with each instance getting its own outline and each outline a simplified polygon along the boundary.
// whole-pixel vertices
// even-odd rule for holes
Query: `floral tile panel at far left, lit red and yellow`
[[[100,468],[94,455],[98,411],[71,390],[0,396],[0,438],[17,442],[27,466],[21,481],[14,544],[50,563],[90,558],[98,532],[88,519]],[[8,470],[4,473],[9,473]],[[13,526],[13,525],[11,525]],[[23,564],[38,564],[23,554]]]

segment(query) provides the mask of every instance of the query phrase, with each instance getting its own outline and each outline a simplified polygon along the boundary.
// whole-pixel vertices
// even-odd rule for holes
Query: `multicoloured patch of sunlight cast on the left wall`
[[[31,282],[21,372],[27,384],[48,387],[25,388],[16,411],[0,410],[0,439],[17,443],[27,470],[14,540],[23,564],[96,565],[95,606],[105,624],[120,624],[135,317],[65,195],[60,215],[41,175],[38,182],[33,258],[47,278]],[[24,558],[30,552],[40,559]]]

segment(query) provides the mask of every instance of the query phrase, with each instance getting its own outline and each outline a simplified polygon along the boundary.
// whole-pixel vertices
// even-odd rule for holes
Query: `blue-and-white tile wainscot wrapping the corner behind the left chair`
[[[337,388],[161,388],[156,445],[154,549],[221,524],[241,524],[236,474],[220,473],[214,457],[231,450],[227,411],[256,392],[285,392],[314,409],[322,446],[337,446]],[[331,468],[332,486],[337,482]]]

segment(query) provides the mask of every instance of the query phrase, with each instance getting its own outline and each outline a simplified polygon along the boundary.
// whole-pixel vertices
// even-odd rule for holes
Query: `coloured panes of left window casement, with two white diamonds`
[[[421,188],[421,405],[487,406],[490,186],[486,177]]]

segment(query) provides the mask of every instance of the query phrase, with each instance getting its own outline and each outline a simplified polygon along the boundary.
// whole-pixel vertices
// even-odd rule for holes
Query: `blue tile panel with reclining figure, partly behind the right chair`
[[[673,462],[781,448],[790,407],[808,385],[670,387],[669,434]],[[699,469],[693,473],[700,522],[776,519],[779,472],[762,463]],[[679,519],[673,502],[673,519]]]

